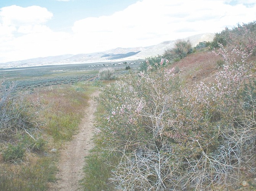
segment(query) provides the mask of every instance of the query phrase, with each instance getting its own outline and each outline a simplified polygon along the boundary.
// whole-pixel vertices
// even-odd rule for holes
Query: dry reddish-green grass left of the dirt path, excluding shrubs
[[[95,89],[90,83],[78,83],[38,88],[27,95],[30,112],[37,113],[39,126],[33,135],[44,138],[47,145],[39,151],[26,148],[25,157],[16,164],[3,161],[0,153],[0,190],[47,190],[48,183],[56,181],[58,150],[76,133],[89,94]],[[29,141],[23,135],[14,137],[12,142],[21,145]],[[4,147],[1,143],[0,151]]]

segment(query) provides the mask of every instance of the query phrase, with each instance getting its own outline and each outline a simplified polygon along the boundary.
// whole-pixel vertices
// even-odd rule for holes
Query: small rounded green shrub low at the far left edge
[[[18,162],[22,161],[25,156],[25,149],[23,144],[18,145],[8,144],[2,152],[3,160],[7,162]]]

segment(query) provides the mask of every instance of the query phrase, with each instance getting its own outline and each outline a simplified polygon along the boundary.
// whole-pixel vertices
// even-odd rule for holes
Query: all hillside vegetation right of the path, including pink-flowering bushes
[[[255,189],[255,25],[104,86],[85,190]]]

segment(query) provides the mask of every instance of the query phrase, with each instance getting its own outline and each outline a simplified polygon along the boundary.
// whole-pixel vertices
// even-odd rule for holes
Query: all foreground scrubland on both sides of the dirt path
[[[105,68],[93,82],[27,92],[3,79],[0,190],[47,190],[56,181],[59,150],[95,89],[96,146],[85,159],[84,190],[254,190],[255,64],[251,22],[194,48],[178,42],[136,70]]]

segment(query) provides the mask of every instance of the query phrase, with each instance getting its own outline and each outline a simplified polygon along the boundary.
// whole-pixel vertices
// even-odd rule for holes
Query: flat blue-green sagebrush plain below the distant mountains
[[[112,67],[117,74],[126,73],[125,67],[130,64],[131,70],[138,68],[141,60],[121,62],[49,65],[39,67],[6,68],[0,69],[0,80],[18,81],[19,90],[33,90],[57,84],[73,84],[79,81],[97,77],[101,68]]]

